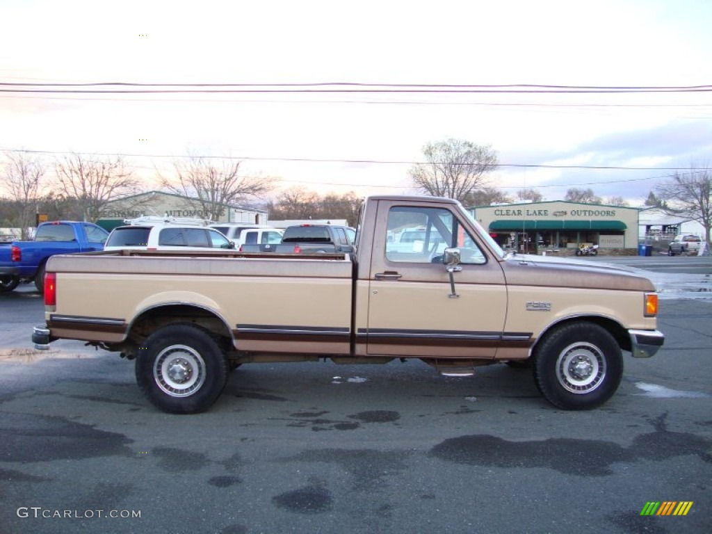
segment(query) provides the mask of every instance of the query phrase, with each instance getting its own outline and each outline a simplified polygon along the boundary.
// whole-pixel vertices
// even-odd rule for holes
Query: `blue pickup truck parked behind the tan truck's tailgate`
[[[108,236],[101,226],[88,222],[52,221],[37,227],[34,241],[0,244],[0,293],[31,281],[42,293],[50,256],[101,251]]]

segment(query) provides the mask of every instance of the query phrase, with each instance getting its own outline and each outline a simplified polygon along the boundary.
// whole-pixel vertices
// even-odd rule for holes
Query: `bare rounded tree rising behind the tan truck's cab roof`
[[[423,147],[427,162],[409,169],[413,184],[434,197],[464,201],[467,194],[487,185],[487,174],[497,168],[497,152],[489,145],[447,139]]]

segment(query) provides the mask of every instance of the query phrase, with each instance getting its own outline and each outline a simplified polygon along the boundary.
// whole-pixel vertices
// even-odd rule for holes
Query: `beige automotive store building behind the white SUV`
[[[125,219],[136,219],[145,215],[206,219],[206,214],[201,209],[199,199],[183,197],[179,194],[150,191],[109,202],[104,211],[103,219],[97,221],[97,224],[111,229],[123,224]],[[216,222],[268,224],[266,211],[232,206],[230,204],[223,204],[221,213],[213,219],[217,219]]]

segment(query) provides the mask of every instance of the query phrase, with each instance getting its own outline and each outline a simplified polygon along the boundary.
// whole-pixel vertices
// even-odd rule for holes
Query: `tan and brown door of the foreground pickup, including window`
[[[382,201],[368,283],[368,355],[493,358],[501,345],[507,293],[498,262],[484,253],[455,206]],[[385,219],[384,219],[385,218]],[[453,293],[443,263],[461,250]]]

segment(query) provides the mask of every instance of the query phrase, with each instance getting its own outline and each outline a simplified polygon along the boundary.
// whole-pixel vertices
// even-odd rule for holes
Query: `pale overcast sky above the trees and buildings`
[[[411,193],[409,162],[422,161],[426,143],[454,137],[491,145],[502,164],[493,184],[512,194],[533,187],[556,200],[590,187],[633,204],[669,168],[712,162],[708,0],[0,0],[0,20],[4,84],[387,90],[1,85],[33,92],[0,92],[0,150],[132,155],[146,177],[188,154],[247,158],[249,172],[283,187]],[[396,93],[381,84],[709,90]]]

